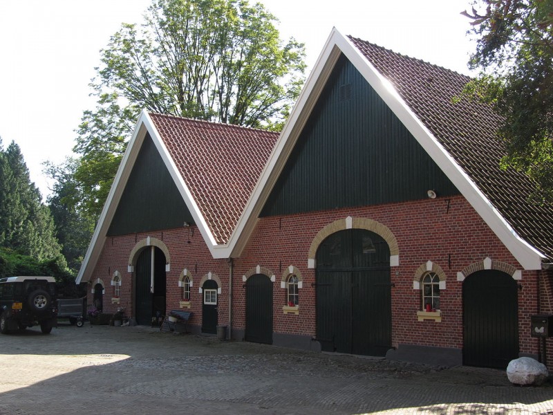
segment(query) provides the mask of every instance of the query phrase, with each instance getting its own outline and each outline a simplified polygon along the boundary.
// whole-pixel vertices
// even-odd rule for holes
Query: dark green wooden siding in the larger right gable
[[[342,55],[260,216],[395,203],[456,187]]]

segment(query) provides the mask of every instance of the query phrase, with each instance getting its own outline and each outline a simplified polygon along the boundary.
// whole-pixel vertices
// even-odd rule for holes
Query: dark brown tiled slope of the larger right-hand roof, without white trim
[[[496,136],[500,118],[491,107],[464,99],[453,103],[470,78],[348,37],[393,84],[402,100],[448,151],[519,237],[553,259],[553,208],[530,203],[532,181],[500,168],[505,147]]]

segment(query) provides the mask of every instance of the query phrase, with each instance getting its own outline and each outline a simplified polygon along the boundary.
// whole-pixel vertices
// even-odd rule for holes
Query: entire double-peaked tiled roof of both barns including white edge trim
[[[352,62],[523,268],[539,269],[553,260],[553,208],[528,203],[532,183],[512,169],[500,169],[504,152],[494,135],[497,116],[476,102],[451,103],[469,78],[333,29],[280,136],[143,111],[77,282],[90,278],[100,257],[147,133],[213,257],[238,257],[340,55]]]

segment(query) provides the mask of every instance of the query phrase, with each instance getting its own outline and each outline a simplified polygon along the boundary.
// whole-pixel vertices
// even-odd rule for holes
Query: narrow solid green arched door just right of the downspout
[[[272,344],[272,282],[267,275],[252,275],[246,281],[245,340]]]

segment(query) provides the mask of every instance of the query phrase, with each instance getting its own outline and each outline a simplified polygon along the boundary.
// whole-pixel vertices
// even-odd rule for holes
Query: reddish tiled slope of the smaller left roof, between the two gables
[[[150,113],[217,245],[225,245],[278,133]]]

